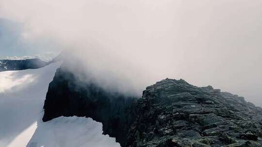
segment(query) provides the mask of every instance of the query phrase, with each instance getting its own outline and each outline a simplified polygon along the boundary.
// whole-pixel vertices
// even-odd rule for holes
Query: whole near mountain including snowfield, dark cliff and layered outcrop
[[[0,147],[262,147],[262,108],[244,97],[166,78],[137,98],[60,59],[0,72]]]

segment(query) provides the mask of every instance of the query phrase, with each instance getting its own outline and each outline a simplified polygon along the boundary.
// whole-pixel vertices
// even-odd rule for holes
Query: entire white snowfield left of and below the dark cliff
[[[48,86],[60,65],[0,72],[0,147],[120,147],[91,118],[42,122]]]

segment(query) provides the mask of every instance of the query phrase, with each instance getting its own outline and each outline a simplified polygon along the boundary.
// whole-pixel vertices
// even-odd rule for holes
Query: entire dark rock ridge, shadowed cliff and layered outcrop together
[[[43,121],[90,117],[122,147],[262,147],[262,108],[219,89],[165,79],[140,99],[84,83],[63,68],[49,84]]]

